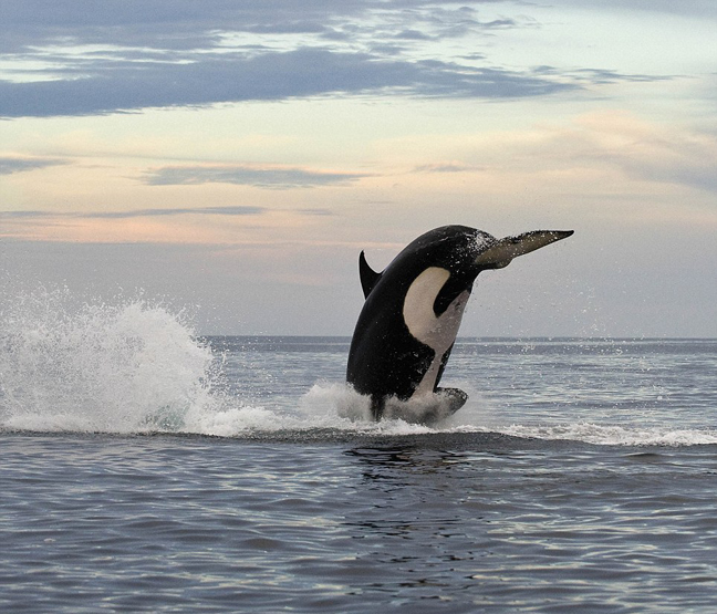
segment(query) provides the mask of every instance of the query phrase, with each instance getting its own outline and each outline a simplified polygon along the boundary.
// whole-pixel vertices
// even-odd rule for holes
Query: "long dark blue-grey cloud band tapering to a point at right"
[[[576,87],[502,69],[382,59],[322,48],[258,55],[198,54],[189,63],[101,60],[75,70],[72,79],[0,82],[0,116],[92,115],[386,91],[413,96],[510,98]]]

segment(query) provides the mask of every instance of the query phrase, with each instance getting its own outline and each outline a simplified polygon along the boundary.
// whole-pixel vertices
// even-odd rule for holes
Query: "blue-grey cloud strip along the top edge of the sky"
[[[226,34],[353,31],[385,39],[403,30],[455,35],[481,24],[472,7],[491,0],[24,0],[3,4],[0,50],[27,52],[56,42],[196,50]],[[356,38],[354,37],[354,43]]]

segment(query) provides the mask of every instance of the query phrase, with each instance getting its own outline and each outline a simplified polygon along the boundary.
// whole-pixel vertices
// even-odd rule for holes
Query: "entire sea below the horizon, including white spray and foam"
[[[459,339],[432,427],[349,339],[0,313],[0,612],[713,613],[717,340]]]

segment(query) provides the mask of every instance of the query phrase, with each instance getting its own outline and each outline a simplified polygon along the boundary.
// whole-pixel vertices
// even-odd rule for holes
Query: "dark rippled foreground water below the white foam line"
[[[717,447],[0,438],[0,611],[711,612]]]

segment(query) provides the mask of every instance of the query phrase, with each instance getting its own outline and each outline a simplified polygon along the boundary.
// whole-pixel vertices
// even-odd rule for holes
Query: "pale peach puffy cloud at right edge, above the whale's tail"
[[[606,177],[600,174],[609,171],[612,179],[598,186],[603,194],[611,194],[619,186],[625,195],[635,189],[644,190],[645,185],[635,188],[630,186],[632,181],[717,194],[717,134],[710,129],[700,132],[646,122],[628,112],[593,112],[565,125],[542,125],[523,133],[497,133],[479,150],[486,164],[484,177],[497,170],[523,177],[550,174],[557,185],[571,176]],[[466,153],[470,155],[470,150]],[[460,170],[464,165],[439,163],[415,170],[440,171],[444,167],[451,170],[454,166]],[[679,202],[675,208],[683,205],[687,204]]]

